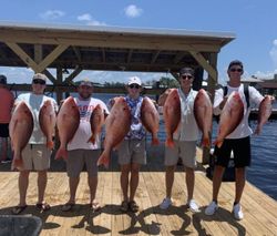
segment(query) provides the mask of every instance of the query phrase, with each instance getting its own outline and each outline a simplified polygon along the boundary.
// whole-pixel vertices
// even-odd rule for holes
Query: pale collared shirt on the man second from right
[[[197,95],[197,91],[191,90],[189,93],[185,95],[182,90],[178,89],[178,95],[181,101],[181,122],[173,138],[179,141],[197,141],[199,130],[194,116],[194,100]]]

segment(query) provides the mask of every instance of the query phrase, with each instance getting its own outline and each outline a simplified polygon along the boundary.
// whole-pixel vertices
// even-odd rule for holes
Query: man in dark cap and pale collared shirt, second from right
[[[194,80],[194,70],[192,68],[183,68],[179,71],[178,82],[181,88],[177,90],[181,101],[181,124],[174,133],[174,147],[165,147],[165,186],[166,196],[161,203],[162,209],[167,209],[172,205],[172,187],[174,182],[174,172],[178,157],[182,158],[186,172],[186,204],[191,212],[198,212],[198,205],[193,199],[194,193],[194,170],[196,167],[196,142],[198,138],[198,126],[195,121],[193,107],[197,91],[192,89]],[[164,105],[166,94],[163,94],[158,101],[160,105]]]

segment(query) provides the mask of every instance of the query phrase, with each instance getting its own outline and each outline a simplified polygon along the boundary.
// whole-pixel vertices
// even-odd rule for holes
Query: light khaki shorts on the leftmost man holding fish
[[[51,151],[45,144],[27,144],[22,150],[23,170],[45,171],[50,168]]]

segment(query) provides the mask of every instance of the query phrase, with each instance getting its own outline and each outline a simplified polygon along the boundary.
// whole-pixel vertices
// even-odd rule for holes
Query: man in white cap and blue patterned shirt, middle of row
[[[121,211],[125,213],[130,209],[135,213],[138,211],[138,205],[134,197],[138,186],[140,167],[146,164],[146,132],[141,122],[141,106],[143,102],[141,79],[138,76],[130,78],[126,91],[125,100],[131,110],[132,121],[130,131],[117,150],[119,164],[121,166],[121,189],[123,193]]]

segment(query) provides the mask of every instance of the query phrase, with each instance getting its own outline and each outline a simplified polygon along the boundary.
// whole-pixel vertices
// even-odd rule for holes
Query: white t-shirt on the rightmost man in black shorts
[[[240,84],[238,88],[233,88],[227,85],[227,95],[229,95],[233,91],[237,91],[244,103],[244,117],[239,125],[226,138],[243,138],[253,134],[252,129],[248,124],[248,117],[252,111],[252,107],[259,106],[259,103],[263,101],[264,96],[254,88],[248,86],[249,91],[249,104],[250,106],[247,109],[247,103],[244,94],[244,84]],[[215,91],[215,100],[214,100],[214,114],[219,115],[222,110],[219,109],[219,104],[223,101],[224,91],[223,89],[218,89]]]

